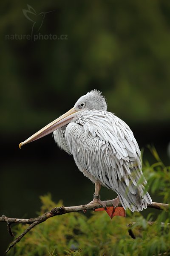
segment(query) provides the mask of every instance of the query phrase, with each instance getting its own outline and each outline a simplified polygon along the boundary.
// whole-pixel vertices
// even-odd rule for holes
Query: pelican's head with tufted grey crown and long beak
[[[37,131],[27,140],[21,142],[19,147],[21,148],[23,145],[33,142],[34,140],[38,140],[52,133],[58,128],[67,125],[75,116],[77,116],[79,111],[83,111],[85,109],[107,110],[107,103],[101,94],[102,93],[99,90],[92,90],[91,92],[88,92],[84,96],[80,97],[73,108],[43,127],[40,131]]]

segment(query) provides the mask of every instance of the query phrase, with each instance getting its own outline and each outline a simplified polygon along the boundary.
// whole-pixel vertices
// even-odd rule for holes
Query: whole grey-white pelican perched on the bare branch
[[[53,132],[59,148],[73,155],[78,169],[95,183],[93,201],[105,208],[100,200],[100,188],[105,186],[117,194],[119,201],[132,212],[142,211],[152,203],[144,185],[141,152],[129,126],[107,111],[105,97],[92,90],[80,97],[74,108],[46,125],[20,143],[19,147]],[[89,203],[89,204],[90,204]]]

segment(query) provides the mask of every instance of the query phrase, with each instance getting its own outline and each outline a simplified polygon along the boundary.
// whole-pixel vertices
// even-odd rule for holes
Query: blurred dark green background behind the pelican
[[[47,192],[65,205],[91,201],[94,185],[51,135],[22,150],[18,144],[92,89],[140,148],[155,145],[168,164],[170,1],[6,0],[0,7],[0,215],[34,217]],[[101,195],[113,198],[108,189]],[[5,224],[0,230],[1,254],[11,239]]]

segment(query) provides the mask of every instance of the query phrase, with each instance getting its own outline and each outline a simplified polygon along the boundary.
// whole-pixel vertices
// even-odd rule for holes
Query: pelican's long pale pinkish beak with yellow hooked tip
[[[40,131],[37,131],[35,134],[33,134],[27,140],[21,142],[19,145],[19,148],[21,148],[23,145],[30,143],[34,140],[38,140],[38,139],[44,137],[45,135],[50,134],[51,132],[57,130],[58,128],[68,124],[71,121],[71,119],[77,115],[78,111],[79,110],[77,108],[71,108],[68,112],[66,112],[59,118],[55,119],[53,122],[46,125]]]

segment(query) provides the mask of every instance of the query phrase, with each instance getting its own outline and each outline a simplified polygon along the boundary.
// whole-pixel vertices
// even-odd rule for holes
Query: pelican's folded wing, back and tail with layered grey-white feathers
[[[151,202],[148,193],[143,195],[139,146],[129,126],[113,113],[82,111],[68,124],[65,139],[79,170],[114,190],[125,209],[139,211]]]

